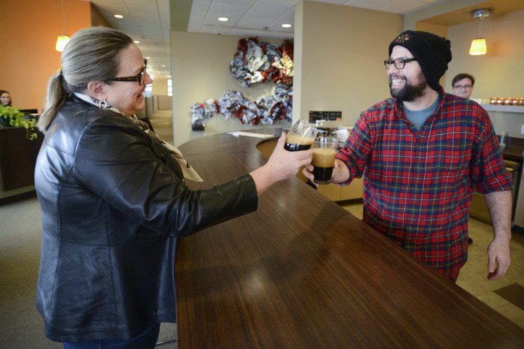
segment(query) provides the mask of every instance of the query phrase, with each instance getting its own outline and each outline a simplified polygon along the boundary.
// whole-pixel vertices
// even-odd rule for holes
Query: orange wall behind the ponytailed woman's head
[[[65,33],[91,27],[90,3],[64,0]],[[61,0],[16,0],[2,3],[0,89],[9,91],[13,107],[41,111],[47,81],[60,68],[54,50],[63,32]]]

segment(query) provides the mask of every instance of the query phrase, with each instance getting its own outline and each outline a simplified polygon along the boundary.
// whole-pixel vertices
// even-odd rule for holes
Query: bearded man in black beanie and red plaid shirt
[[[488,279],[510,264],[511,176],[487,112],[447,94],[439,79],[450,42],[405,31],[384,63],[392,98],[362,113],[337,154],[332,182],[364,176],[364,221],[456,281],[467,259],[473,187],[492,217]],[[312,179],[309,165],[304,175]]]

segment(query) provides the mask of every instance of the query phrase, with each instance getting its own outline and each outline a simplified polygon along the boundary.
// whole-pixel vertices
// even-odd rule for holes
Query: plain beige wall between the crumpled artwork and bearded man
[[[295,23],[293,120],[308,120],[310,110],[342,111],[342,122],[324,125],[353,126],[362,111],[390,97],[383,62],[402,16],[303,1]]]

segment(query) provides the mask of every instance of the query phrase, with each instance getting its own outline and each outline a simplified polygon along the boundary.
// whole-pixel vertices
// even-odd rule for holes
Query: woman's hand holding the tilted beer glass
[[[276,182],[295,176],[300,167],[311,164],[313,150],[290,152],[284,149],[285,143],[286,133],[282,132],[268,162],[250,173],[258,194]]]

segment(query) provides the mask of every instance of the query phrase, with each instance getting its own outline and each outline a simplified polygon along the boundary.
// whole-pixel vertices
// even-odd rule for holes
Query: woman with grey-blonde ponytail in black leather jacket
[[[49,80],[35,170],[42,215],[37,309],[64,348],[153,348],[176,321],[177,241],[255,211],[258,195],[296,175],[312,151],[283,149],[211,189],[136,113],[152,83],[132,39],[104,27],[71,37]]]

